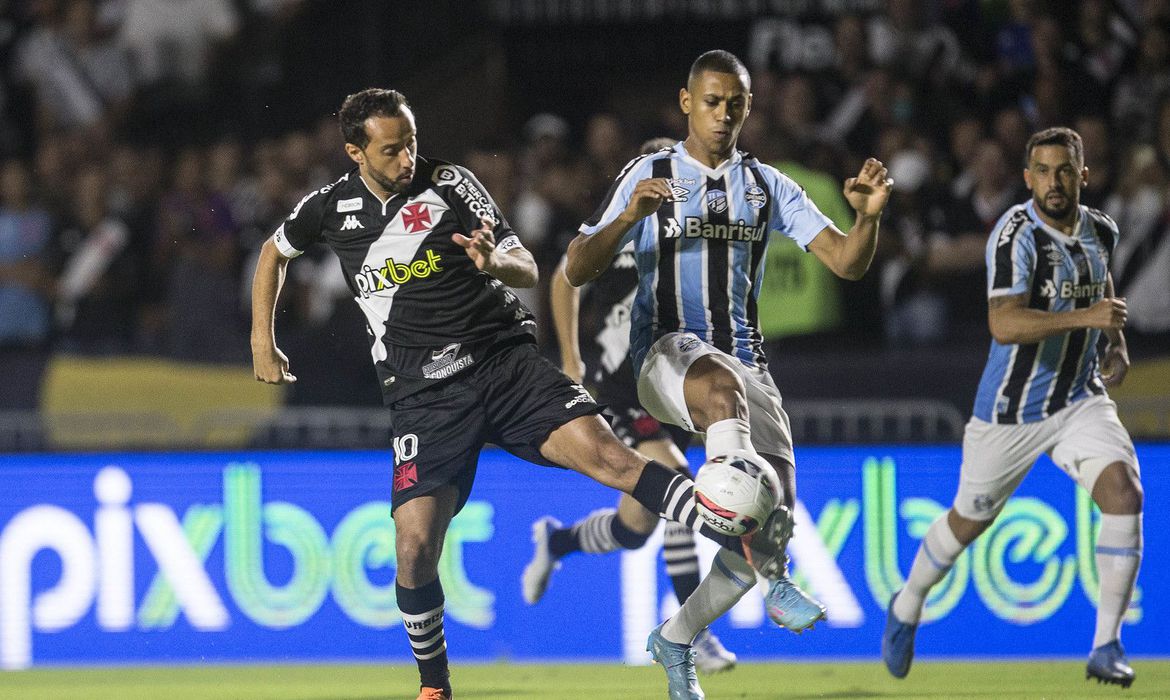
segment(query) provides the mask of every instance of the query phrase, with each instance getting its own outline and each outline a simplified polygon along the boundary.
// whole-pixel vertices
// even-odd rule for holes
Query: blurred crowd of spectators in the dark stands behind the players
[[[352,164],[328,114],[278,133],[264,132],[262,114],[239,131],[208,133],[199,122],[223,97],[226,57],[253,92],[281,80],[273,47],[303,4],[9,5],[18,9],[0,27],[0,366],[14,384],[4,403],[35,405],[53,351],[249,362],[260,243],[301,197]],[[1170,1],[889,0],[885,12],[806,25],[800,52],[787,50],[786,28],[763,18],[742,46],[723,47],[752,68],[741,147],[790,173],[842,228],[852,215],[840,185],[866,157],[888,165],[895,193],[861,282],[821,276],[794,246],[772,246],[765,336],[985,344],[986,234],[1027,197],[1030,133],[1065,124],[1085,138],[1082,203],[1121,226],[1113,274],[1129,300],[1131,350],[1170,352]],[[538,315],[567,241],[640,142],[686,133],[673,99],[638,99],[584,118],[521,115],[490,143],[455,153],[429,147],[419,124],[422,155],[475,172],[536,255],[542,286],[525,300]],[[324,251],[290,267],[282,344],[296,346],[295,364],[352,366],[356,384],[335,375],[332,389],[300,387],[300,400],[333,402],[345,386],[345,398],[373,402],[372,389],[349,391],[372,383],[360,316],[337,270]],[[804,321],[787,323],[793,315]],[[546,318],[542,328],[551,346]]]

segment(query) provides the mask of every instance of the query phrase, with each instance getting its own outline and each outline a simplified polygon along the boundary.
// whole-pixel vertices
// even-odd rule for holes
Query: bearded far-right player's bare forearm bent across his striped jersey
[[[1027,294],[993,296],[987,300],[987,327],[1003,345],[1039,343],[1049,336],[1079,328],[1097,328],[1117,334],[1126,325],[1126,300],[1107,296],[1092,307],[1068,311],[1042,311],[1027,308]],[[1128,361],[1127,361],[1128,362]]]

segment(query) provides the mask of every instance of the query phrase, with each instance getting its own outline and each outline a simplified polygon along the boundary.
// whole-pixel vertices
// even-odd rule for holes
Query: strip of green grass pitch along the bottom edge
[[[1128,691],[1085,680],[1083,661],[920,661],[906,680],[878,663],[743,664],[701,677],[707,696],[772,698],[1170,698],[1170,661],[1134,660]],[[456,664],[456,698],[661,699],[658,666]],[[158,666],[0,673],[13,700],[386,700],[418,693],[414,666]]]

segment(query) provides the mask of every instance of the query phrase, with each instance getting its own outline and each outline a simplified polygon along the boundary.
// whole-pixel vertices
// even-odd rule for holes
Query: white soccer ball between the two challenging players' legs
[[[780,502],[780,480],[768,464],[743,454],[714,457],[695,478],[695,508],[715,529],[748,535]]]

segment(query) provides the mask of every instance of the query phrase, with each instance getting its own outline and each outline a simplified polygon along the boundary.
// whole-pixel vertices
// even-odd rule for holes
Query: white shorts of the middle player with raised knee
[[[715,349],[695,334],[672,332],[655,342],[638,375],[638,402],[662,423],[698,432],[690,421],[690,411],[682,393],[682,382],[690,365],[704,355],[722,355],[739,371],[748,391],[748,416],[751,445],[760,454],[784,458],[796,464],[792,454],[792,428],[789,414],[780,405],[780,390],[768,370],[749,368],[738,359]]]

